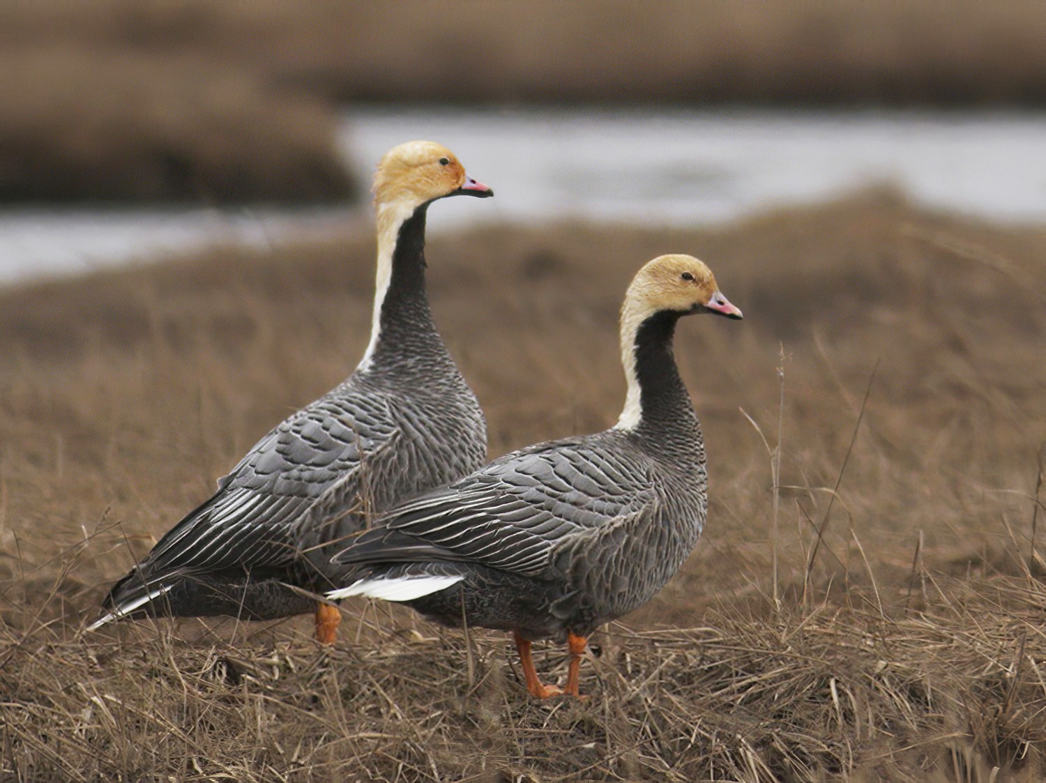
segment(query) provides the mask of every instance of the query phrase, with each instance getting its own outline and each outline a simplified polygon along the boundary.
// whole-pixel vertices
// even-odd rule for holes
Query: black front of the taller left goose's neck
[[[373,354],[379,364],[410,363],[418,354],[435,358],[446,353],[425,292],[427,209],[428,204],[423,204],[400,226],[379,316],[381,331]]]

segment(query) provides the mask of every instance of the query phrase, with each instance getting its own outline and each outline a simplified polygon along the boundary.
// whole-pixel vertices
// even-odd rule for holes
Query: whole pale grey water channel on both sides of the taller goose
[[[702,225],[874,183],[985,217],[1046,224],[1046,114],[374,109],[345,116],[361,178],[393,144],[454,149],[497,197],[438,206],[439,230],[583,217]],[[434,215],[437,213],[434,211]],[[214,241],[264,246],[369,221],[365,208],[9,209],[0,281]]]

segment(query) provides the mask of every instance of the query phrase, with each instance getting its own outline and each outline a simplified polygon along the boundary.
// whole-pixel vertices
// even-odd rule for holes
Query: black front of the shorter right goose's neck
[[[636,431],[658,441],[686,446],[698,435],[698,419],[672,350],[679,313],[655,313],[636,331],[636,381],[640,418]]]

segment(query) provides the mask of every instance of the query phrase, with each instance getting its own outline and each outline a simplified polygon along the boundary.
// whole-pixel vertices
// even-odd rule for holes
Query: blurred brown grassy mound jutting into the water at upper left
[[[331,107],[218,61],[5,47],[0,96],[0,201],[356,194]]]

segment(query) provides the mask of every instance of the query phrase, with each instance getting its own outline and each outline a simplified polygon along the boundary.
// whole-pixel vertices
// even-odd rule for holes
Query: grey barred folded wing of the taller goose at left
[[[218,492],[160,539],[140,575],[293,561],[308,511],[358,491],[361,464],[395,434],[388,404],[373,393],[318,399],[258,441]]]

